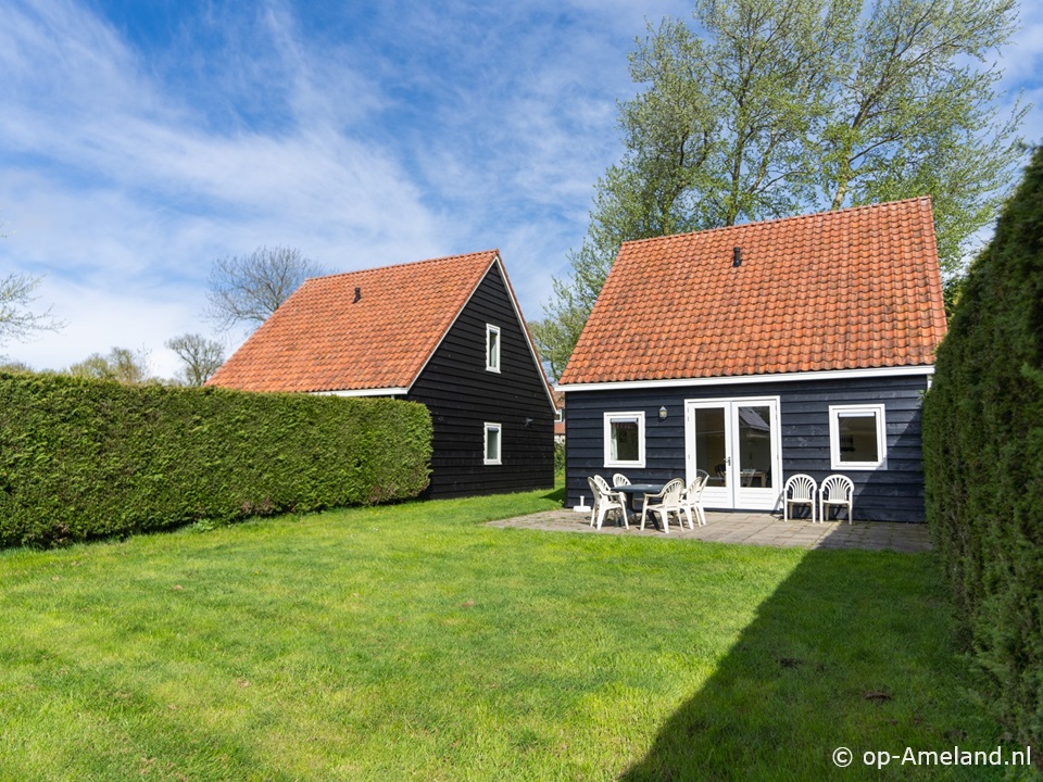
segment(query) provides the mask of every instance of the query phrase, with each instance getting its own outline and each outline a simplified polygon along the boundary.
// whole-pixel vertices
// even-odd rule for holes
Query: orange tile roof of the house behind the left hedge
[[[206,384],[409,388],[498,257],[488,250],[309,279]]]

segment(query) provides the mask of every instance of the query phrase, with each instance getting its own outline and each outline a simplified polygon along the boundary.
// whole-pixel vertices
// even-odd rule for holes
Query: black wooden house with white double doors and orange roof
[[[558,386],[566,502],[703,469],[705,507],[771,510],[840,472],[855,518],[922,520],[945,328],[926,198],[627,242]]]

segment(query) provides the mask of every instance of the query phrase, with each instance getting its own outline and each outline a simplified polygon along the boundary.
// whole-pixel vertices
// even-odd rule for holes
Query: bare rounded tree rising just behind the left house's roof
[[[249,255],[218,258],[210,274],[206,316],[217,328],[237,324],[256,328],[309,277],[327,270],[284,247],[260,247]]]

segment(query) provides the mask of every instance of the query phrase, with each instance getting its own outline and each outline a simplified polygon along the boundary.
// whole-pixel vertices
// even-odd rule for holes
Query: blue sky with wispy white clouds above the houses
[[[202,320],[214,258],[331,270],[499,248],[525,315],[621,153],[627,53],[676,0],[0,0],[0,274],[67,325],[3,348],[58,368]],[[997,53],[1035,104],[1043,10]],[[1011,98],[1013,100],[1013,98]],[[225,338],[229,351],[241,332]]]

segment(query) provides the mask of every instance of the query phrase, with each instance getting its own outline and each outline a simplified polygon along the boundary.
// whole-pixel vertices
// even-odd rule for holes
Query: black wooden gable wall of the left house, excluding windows
[[[500,373],[486,369],[486,325],[500,327]],[[432,497],[550,489],[554,408],[492,266],[406,399],[423,402],[435,428]],[[500,424],[501,464],[486,465],[485,424]]]

